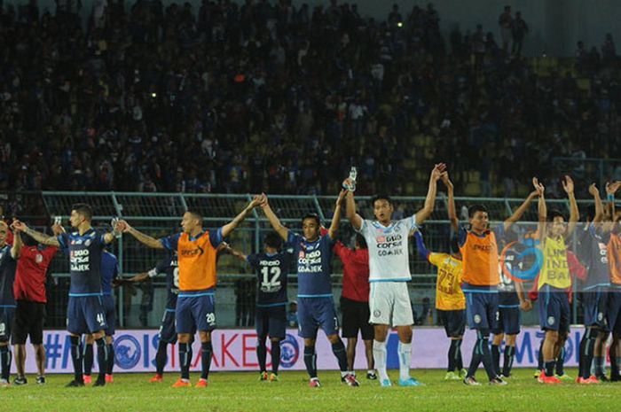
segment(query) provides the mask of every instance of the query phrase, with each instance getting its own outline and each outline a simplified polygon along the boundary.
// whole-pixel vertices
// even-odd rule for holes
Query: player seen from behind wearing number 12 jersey
[[[265,252],[245,255],[230,248],[229,251],[240,260],[248,261],[255,269],[256,283],[256,358],[259,361],[259,379],[279,380],[280,341],[285,338],[287,326],[287,274],[293,255],[279,252],[282,241],[278,233],[270,232],[263,240]],[[271,340],[271,374],[268,377],[266,365],[267,346]]]

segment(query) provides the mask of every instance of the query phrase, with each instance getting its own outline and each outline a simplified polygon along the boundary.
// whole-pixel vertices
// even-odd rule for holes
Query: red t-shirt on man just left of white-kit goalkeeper
[[[369,250],[352,251],[340,241],[334,244],[334,253],[342,260],[342,297],[357,302],[369,301]]]

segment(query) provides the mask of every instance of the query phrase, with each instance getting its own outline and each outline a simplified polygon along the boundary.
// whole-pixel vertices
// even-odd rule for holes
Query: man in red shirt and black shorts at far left
[[[20,232],[15,232],[14,242],[18,250],[17,271],[13,293],[17,307],[13,326],[12,345],[15,350],[15,366],[17,377],[14,385],[28,383],[25,374],[26,365],[26,338],[30,336],[30,343],[35,348],[36,368],[38,375],[36,383],[45,383],[45,347],[43,346],[43,322],[45,320],[45,278],[51,259],[58,251],[57,247],[37,245],[27,237],[25,245]]]

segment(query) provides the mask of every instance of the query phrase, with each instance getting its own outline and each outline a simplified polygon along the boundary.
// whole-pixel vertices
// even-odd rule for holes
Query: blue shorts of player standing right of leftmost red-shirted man
[[[101,295],[69,296],[67,330],[75,335],[106,330],[106,313]]]

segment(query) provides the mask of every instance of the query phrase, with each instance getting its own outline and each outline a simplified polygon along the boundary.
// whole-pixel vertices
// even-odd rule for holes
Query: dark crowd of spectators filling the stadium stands
[[[84,27],[79,7],[0,10],[0,190],[326,194],[358,165],[361,191],[410,195],[445,159],[515,196],[554,156],[620,150],[612,35],[541,71],[510,7],[448,38],[433,4],[377,20],[337,0],[98,0]]]

